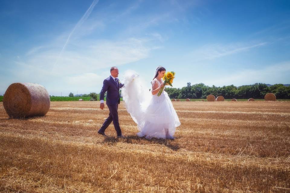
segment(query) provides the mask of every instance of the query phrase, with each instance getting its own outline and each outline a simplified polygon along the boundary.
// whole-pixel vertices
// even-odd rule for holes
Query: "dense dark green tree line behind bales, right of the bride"
[[[255,83],[240,87],[234,85],[223,87],[216,87],[213,85],[210,87],[203,83],[191,85],[191,83],[188,82],[186,87],[167,87],[165,91],[170,98],[174,99],[205,99],[210,94],[215,97],[224,96],[225,99],[264,99],[267,93],[274,93],[277,99],[290,99],[290,86],[287,87],[283,84],[267,86],[263,83]]]

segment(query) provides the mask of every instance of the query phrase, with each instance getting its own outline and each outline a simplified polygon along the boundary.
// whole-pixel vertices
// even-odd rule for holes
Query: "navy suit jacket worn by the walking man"
[[[116,79],[118,82],[118,86],[111,76],[106,78],[103,82],[103,87],[100,93],[100,100],[104,100],[105,92],[107,92],[106,96],[107,105],[115,105],[117,102],[118,104],[120,104],[119,90],[124,86],[124,84],[122,84],[118,78]]]

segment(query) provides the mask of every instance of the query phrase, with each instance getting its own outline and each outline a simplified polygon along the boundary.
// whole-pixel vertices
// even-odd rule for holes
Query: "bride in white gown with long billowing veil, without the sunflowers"
[[[162,77],[165,72],[166,69],[162,66],[156,68],[151,82],[151,91],[142,87],[138,74],[132,71],[125,72],[123,100],[127,111],[137,123],[139,137],[174,139],[175,128],[180,125],[168,94],[163,91],[160,96],[157,96],[164,85]]]

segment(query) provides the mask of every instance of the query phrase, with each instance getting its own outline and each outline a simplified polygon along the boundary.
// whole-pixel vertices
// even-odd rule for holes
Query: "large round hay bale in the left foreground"
[[[11,118],[44,116],[50,107],[50,97],[40,84],[13,83],[4,94],[3,106]]]

